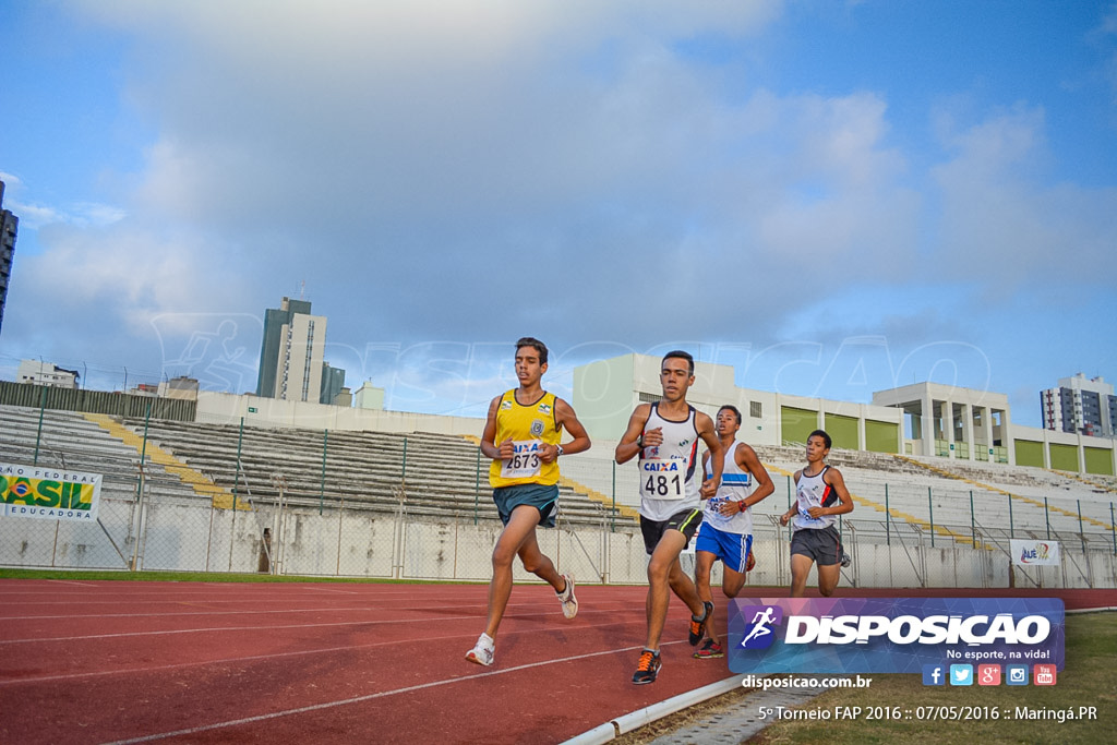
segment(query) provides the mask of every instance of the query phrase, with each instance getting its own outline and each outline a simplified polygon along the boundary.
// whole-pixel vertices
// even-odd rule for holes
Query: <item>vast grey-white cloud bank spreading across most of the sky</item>
[[[156,336],[164,364],[217,365],[233,388],[252,375],[247,318],[304,279],[338,364],[399,371],[397,401],[464,407],[481,392],[468,381],[487,400],[504,372],[456,344],[768,348],[819,333],[818,308],[875,303],[855,331],[885,324],[899,350],[956,333],[936,280],[1028,281],[1060,241],[1113,261],[1113,194],[1044,182],[1030,104],[944,126],[948,160],[928,172],[944,156],[892,134],[884,93],[760,87],[763,35],[795,32],[774,28],[780,2],[77,6],[128,39],[121,95],[155,135],[137,173],[106,176],[135,184],[120,206],[27,210],[44,255],[23,287],[79,283],[34,323],[92,308],[97,338]],[[744,51],[709,64],[709,39]]]

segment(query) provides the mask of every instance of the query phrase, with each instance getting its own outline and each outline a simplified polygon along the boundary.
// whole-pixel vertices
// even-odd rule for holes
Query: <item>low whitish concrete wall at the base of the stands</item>
[[[260,504],[232,510],[203,499],[105,499],[98,516],[98,524],[0,518],[0,565],[487,582],[500,531],[497,520],[423,517],[405,509]],[[563,571],[585,582],[647,581],[647,554],[636,529],[571,531],[560,524],[540,531],[538,539]],[[790,584],[789,542],[786,529],[757,526],[757,569],[750,584]],[[1114,552],[1083,551],[1073,542],[1062,544],[1059,566],[1013,569],[1009,555],[992,546],[887,544],[856,531],[846,545],[853,558],[842,571],[847,588],[1117,586]],[[687,557],[687,571],[691,562]],[[518,566],[514,577],[537,581]],[[720,583],[719,570],[713,581]]]

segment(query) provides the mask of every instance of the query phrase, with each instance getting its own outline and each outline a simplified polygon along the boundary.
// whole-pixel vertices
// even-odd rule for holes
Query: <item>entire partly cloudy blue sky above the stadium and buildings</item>
[[[1114,2],[0,0],[0,378],[255,390],[300,293],[389,408],[681,346],[869,401],[1117,379]],[[127,371],[125,373],[125,370]]]

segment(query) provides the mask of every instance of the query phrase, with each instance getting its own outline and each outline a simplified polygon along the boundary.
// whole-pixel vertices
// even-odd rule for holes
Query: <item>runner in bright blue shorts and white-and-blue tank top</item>
[[[706,502],[701,527],[695,539],[695,586],[704,602],[713,603],[709,574],[714,562],[722,560],[722,592],[736,598],[745,586],[746,572],[752,569],[753,515],[752,506],[775,490],[772,478],[748,445],[737,441],[741,411],[726,404],[718,409],[714,420],[724,452],[722,486]],[[710,471],[709,451],[703,453],[703,470]],[[706,640],[695,651],[695,657],[724,657],[722,640],[714,623],[706,624]]]

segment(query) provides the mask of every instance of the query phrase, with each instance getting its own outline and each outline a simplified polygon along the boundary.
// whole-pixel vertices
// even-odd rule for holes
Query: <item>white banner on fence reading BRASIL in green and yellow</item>
[[[0,462],[0,516],[94,522],[101,474]]]

